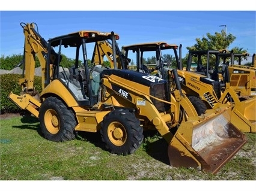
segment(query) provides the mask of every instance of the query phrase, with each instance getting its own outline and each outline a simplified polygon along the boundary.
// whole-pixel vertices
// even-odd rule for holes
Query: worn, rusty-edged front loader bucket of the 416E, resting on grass
[[[168,146],[170,165],[216,174],[247,142],[230,117],[231,108],[228,108],[210,114],[201,122],[181,123]]]

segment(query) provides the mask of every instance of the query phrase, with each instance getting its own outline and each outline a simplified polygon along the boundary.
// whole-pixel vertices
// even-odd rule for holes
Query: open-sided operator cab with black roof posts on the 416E
[[[103,66],[102,55],[98,54],[100,42],[111,40],[111,37],[111,33],[108,32],[79,31],[51,38],[48,41],[49,47],[55,48],[59,55],[66,53],[67,49],[69,54],[75,55],[72,57],[75,63],[72,68],[69,68],[69,71],[65,71],[61,62],[57,62],[52,66],[52,77],[46,78],[46,81],[50,81],[50,78],[59,79],[73,93],[78,105],[93,107],[99,101],[100,72],[106,69]],[[115,39],[119,38],[117,34],[114,37]],[[117,51],[117,53],[120,53],[120,51]],[[93,58],[91,62],[88,59],[89,55]],[[111,54],[106,56],[112,57]],[[118,64],[121,65],[120,60],[118,61]],[[46,73],[48,72],[46,71]]]

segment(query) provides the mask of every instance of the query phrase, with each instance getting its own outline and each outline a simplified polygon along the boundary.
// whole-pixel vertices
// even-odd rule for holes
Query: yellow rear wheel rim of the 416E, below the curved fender
[[[44,124],[51,134],[59,132],[59,118],[55,110],[49,109],[44,114]]]

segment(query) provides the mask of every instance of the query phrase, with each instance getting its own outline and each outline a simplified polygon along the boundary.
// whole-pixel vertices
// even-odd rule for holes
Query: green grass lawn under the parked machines
[[[166,141],[156,135],[145,135],[135,153],[118,156],[97,133],[55,143],[38,134],[35,117],[0,122],[0,180],[256,180],[255,134],[246,134],[248,143],[213,175],[169,166]]]

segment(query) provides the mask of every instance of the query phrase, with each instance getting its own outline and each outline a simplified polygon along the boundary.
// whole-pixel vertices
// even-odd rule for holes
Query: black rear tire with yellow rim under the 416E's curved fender
[[[50,141],[75,139],[75,114],[55,97],[46,98],[39,110],[41,133]]]

